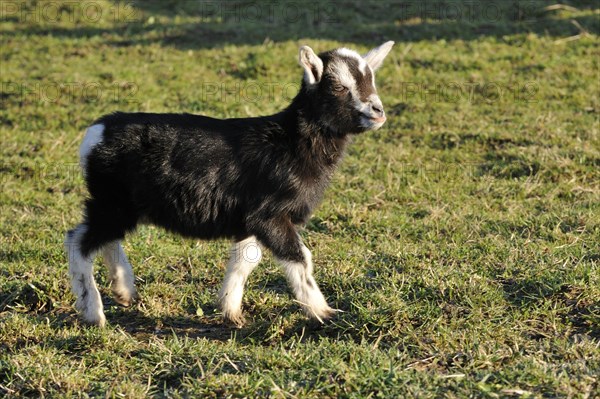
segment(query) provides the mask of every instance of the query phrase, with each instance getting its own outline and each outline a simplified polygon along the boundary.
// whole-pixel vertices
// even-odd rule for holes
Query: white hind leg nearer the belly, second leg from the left
[[[102,257],[110,271],[111,289],[115,301],[130,306],[136,296],[135,277],[127,255],[119,241],[113,241],[102,248]]]

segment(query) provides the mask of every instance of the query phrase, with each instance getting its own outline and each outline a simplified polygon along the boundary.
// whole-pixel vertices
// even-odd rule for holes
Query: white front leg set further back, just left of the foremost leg
[[[262,258],[262,251],[255,237],[236,242],[231,247],[223,287],[219,291],[219,304],[223,317],[238,326],[244,324],[242,296],[248,276]]]

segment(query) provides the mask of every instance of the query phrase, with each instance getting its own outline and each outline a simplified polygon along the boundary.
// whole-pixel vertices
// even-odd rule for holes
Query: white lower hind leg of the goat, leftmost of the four
[[[86,323],[103,327],[106,323],[102,309],[102,299],[94,281],[93,260],[94,256],[85,257],[81,253],[81,237],[86,231],[86,226],[80,224],[67,233],[65,249],[69,257],[69,274],[71,287],[77,297],[75,307]]]

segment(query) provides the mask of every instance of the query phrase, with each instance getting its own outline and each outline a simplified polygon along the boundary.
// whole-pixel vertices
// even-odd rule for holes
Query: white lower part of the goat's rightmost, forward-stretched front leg
[[[312,255],[304,244],[302,244],[302,252],[304,262],[290,262],[281,259],[279,259],[279,262],[285,269],[285,275],[294,292],[296,301],[308,316],[322,323],[323,320],[330,318],[335,310],[327,304],[312,275]]]

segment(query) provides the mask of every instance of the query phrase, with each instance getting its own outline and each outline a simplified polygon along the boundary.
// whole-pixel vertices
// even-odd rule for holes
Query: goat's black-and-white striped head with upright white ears
[[[308,46],[300,48],[302,90],[309,96],[320,123],[338,133],[361,133],[384,124],[386,117],[375,88],[375,71],[393,45],[394,42],[386,42],[365,56],[346,48],[317,56]]]

